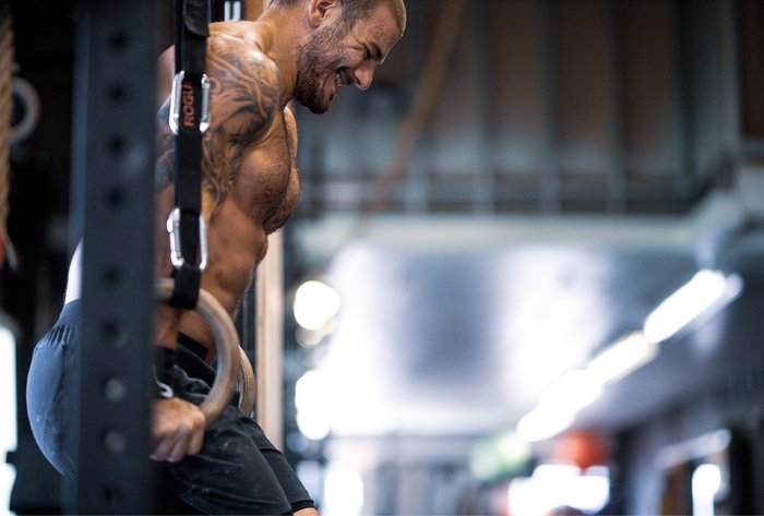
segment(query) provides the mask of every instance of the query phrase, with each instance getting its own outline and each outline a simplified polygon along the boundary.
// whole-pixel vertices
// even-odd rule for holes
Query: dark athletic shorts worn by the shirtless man
[[[68,479],[75,472],[72,435],[76,422],[73,396],[82,332],[81,301],[67,303],[56,325],[37,343],[27,377],[26,403],[35,440],[48,460]],[[215,371],[188,338],[178,346],[176,396],[200,405],[208,395]],[[235,403],[205,432],[196,455],[178,464],[155,463],[163,485],[182,503],[206,514],[288,514],[313,502],[284,455],[252,418]],[[162,494],[162,493],[159,493]],[[171,505],[170,505],[171,506]]]

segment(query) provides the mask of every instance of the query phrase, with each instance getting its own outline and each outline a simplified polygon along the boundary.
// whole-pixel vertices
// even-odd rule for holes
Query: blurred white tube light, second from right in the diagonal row
[[[617,382],[658,355],[658,345],[642,332],[634,332],[614,341],[592,358],[586,371],[602,384]]]

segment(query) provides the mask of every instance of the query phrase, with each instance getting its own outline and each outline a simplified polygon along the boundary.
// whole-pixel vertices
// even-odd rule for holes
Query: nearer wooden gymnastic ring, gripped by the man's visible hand
[[[156,297],[159,301],[167,301],[172,295],[175,281],[169,278],[159,279],[156,284]],[[199,301],[194,311],[204,320],[210,327],[215,346],[217,348],[217,374],[212,384],[210,395],[199,407],[206,424],[215,421],[226,405],[234,397],[237,377],[240,368],[239,336],[236,333],[234,322],[228,312],[220,303],[206,290],[199,289]]]

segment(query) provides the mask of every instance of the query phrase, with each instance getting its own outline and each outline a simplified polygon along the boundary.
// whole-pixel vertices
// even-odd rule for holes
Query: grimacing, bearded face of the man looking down
[[[295,99],[322,113],[339,86],[366,89],[397,39],[397,25],[384,5],[351,27],[338,20],[317,28],[298,53]]]

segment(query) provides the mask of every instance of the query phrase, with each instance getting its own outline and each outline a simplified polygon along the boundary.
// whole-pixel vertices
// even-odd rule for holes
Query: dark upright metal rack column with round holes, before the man
[[[83,248],[79,478],[67,512],[153,512],[150,369],[157,4],[77,10],[74,235]]]

